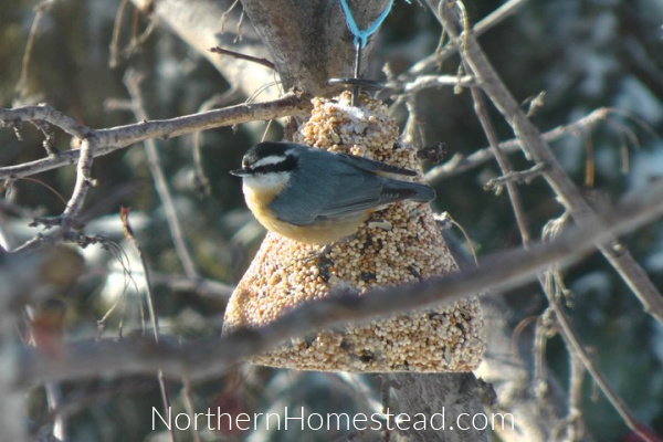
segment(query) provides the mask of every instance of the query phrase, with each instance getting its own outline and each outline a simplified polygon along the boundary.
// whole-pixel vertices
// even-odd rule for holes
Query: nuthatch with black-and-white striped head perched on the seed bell
[[[394,202],[435,198],[429,185],[392,178],[414,177],[413,170],[287,141],[259,143],[230,173],[242,178],[246,204],[262,225],[307,244],[350,236]]]

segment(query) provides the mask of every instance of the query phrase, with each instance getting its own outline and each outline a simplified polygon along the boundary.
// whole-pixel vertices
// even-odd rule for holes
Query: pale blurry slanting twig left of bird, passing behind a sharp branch
[[[148,116],[147,112],[145,110],[143,93],[140,92],[140,80],[139,73],[134,70],[129,70],[125,74],[124,83],[129,91],[129,95],[131,96],[136,119],[146,120]],[[175,209],[175,203],[172,202],[172,197],[170,194],[170,190],[168,189],[168,183],[166,182],[164,169],[161,168],[161,159],[159,158],[157,144],[152,138],[145,140],[145,155],[147,156],[147,164],[155,181],[155,188],[157,189],[159,199],[164,204],[166,220],[168,221],[168,228],[170,229],[170,238],[175,244],[180,264],[182,265],[182,269],[189,278],[197,280],[199,277],[198,271],[196,270],[196,264],[193,263],[193,259],[189,253],[189,249],[185,243],[185,236],[180,227],[179,217],[177,214],[177,210]]]

